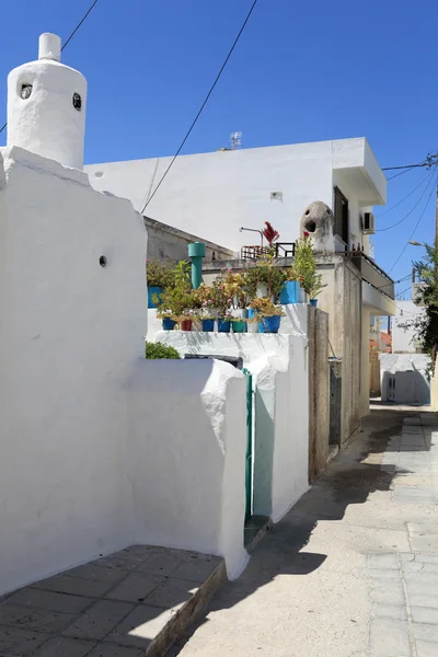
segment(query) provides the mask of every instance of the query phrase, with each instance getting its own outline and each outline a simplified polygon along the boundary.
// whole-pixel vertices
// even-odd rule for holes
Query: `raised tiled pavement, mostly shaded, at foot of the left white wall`
[[[132,545],[0,601],[0,657],[163,655],[227,579],[217,556]]]

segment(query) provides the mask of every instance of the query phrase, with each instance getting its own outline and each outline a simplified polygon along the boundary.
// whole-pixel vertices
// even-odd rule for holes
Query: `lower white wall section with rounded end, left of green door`
[[[139,543],[247,562],[246,380],[218,360],[148,360],[130,382],[129,477]]]

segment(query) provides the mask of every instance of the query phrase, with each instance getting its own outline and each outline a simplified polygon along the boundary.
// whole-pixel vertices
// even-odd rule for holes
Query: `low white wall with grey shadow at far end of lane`
[[[382,354],[380,356],[383,402],[429,404],[430,357],[427,354]]]

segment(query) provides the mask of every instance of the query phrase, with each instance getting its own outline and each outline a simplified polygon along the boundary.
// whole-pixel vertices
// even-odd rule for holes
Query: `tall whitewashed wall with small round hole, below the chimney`
[[[0,592],[132,542],[126,382],[147,324],[130,203],[2,155]]]

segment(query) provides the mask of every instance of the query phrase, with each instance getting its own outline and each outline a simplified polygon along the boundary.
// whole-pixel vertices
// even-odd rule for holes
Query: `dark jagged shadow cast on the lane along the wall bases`
[[[383,470],[379,464],[365,461],[369,454],[387,450],[390,436],[401,433],[405,415],[394,418],[388,412],[373,412],[364,419],[365,429],[371,427],[370,423],[377,417],[383,429],[370,431],[365,441],[358,440],[339,452],[310,491],[256,546],[243,575],[220,589],[204,618],[174,646],[172,657],[178,654],[198,626],[208,622],[206,616],[209,612],[239,604],[279,575],[308,575],[324,563],[326,554],[303,551],[312,532],[320,520],[341,520],[349,505],[364,504],[370,494],[391,489],[395,466]],[[397,473],[401,472],[408,473],[399,469]]]

